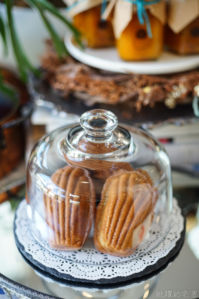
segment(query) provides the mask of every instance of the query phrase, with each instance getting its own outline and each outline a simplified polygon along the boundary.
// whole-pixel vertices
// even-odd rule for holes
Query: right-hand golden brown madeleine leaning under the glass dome
[[[127,257],[151,226],[157,190],[139,171],[120,171],[106,179],[96,209],[94,243],[103,253]]]

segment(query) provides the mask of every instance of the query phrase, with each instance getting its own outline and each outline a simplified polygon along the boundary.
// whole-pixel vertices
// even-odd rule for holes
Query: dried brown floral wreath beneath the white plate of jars
[[[193,97],[199,96],[199,69],[160,76],[112,73],[72,57],[60,60],[51,41],[47,41],[42,69],[50,86],[61,91],[64,98],[72,93],[87,105],[133,101],[140,111],[142,106],[153,107],[162,102],[173,109],[178,104],[192,103]]]

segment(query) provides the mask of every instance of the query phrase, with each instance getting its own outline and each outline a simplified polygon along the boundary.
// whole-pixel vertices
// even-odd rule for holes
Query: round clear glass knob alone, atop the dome
[[[112,112],[96,109],[85,112],[81,117],[80,124],[88,137],[107,138],[117,127],[118,121]]]

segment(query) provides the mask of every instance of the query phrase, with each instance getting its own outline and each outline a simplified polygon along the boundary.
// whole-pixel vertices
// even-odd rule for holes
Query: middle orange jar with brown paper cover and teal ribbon
[[[129,6],[126,23],[123,22],[123,24],[118,25],[117,19],[119,16],[117,14],[124,8],[124,14],[126,15],[127,8],[125,6]],[[128,61],[157,59],[163,49],[164,24],[166,19],[165,2],[163,0],[155,4],[145,5],[148,23],[146,20],[144,24],[140,23],[137,9],[135,4],[125,1],[118,1],[115,4],[113,29],[118,54],[122,59]],[[116,10],[119,11],[117,12]],[[148,30],[149,26],[151,35]]]

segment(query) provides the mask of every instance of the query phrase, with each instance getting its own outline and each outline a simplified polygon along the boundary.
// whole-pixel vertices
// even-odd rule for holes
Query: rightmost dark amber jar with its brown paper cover
[[[165,45],[178,54],[199,53],[198,0],[170,1]]]

